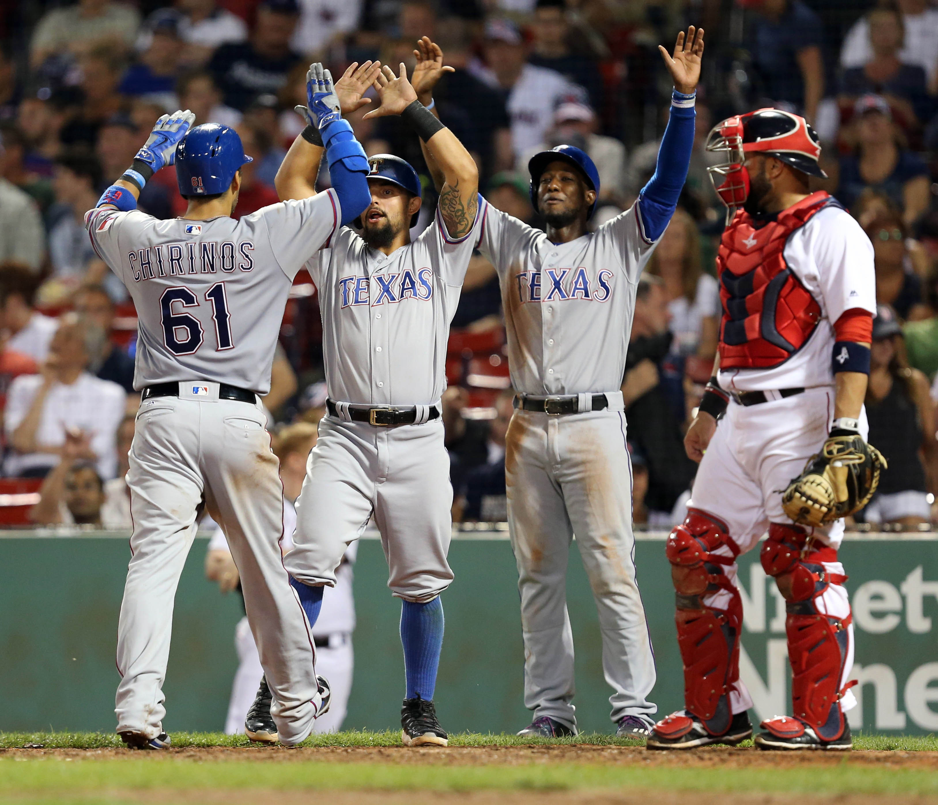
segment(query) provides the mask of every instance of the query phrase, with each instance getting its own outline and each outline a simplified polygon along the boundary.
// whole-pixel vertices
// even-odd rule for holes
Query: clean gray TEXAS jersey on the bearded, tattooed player
[[[488,206],[485,201],[480,207]],[[446,341],[482,209],[454,240],[440,213],[416,240],[386,255],[355,231],[307,264],[323,315],[325,385],[339,402],[424,405],[446,388]]]

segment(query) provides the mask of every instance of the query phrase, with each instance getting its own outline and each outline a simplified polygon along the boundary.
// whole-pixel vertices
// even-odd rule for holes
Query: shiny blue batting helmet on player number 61
[[[176,145],[176,180],[182,196],[210,196],[231,187],[234,174],[247,162],[237,131],[218,123],[189,129]]]

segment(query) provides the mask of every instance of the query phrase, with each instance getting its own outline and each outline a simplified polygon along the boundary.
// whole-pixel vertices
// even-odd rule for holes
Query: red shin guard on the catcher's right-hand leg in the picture
[[[852,617],[826,615],[817,601],[829,585],[847,577],[828,573],[823,562],[836,562],[837,551],[822,547],[806,555],[808,535],[796,525],[771,524],[762,550],[765,572],[775,576],[786,600],[785,632],[792,663],[794,717],[823,741],[840,738],[844,730],[840,688],[849,650]],[[771,725],[766,726],[771,731]]]

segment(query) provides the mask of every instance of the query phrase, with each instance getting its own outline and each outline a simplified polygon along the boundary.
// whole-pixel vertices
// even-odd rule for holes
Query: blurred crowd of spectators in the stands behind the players
[[[527,160],[575,144],[597,164],[593,223],[634,201],[655,170],[670,84],[656,52],[706,29],[697,136],[681,204],[647,267],[623,378],[637,522],[681,516],[696,465],[682,447],[717,348],[714,256],[724,209],[706,174],[711,126],[776,106],[805,114],[829,178],[812,180],[873,243],[877,296],[867,410],[890,462],[859,519],[929,524],[938,494],[938,8],[928,0],[12,0],[0,8],[0,400],[3,473],[41,483],[40,524],[129,524],[123,475],[139,395],[135,311],[83,230],[83,213],[129,166],[160,114],[234,127],[254,161],[234,216],[277,201],[274,176],[302,129],[310,61],[334,75],[380,59],[413,68],[430,36],[447,73],[441,119],[469,148],[490,203],[537,226]],[[349,115],[366,151],[411,161],[396,117]],[[320,187],[328,173],[320,174]],[[185,202],[174,172],[139,206]],[[322,323],[301,274],[281,328],[271,424],[323,406]],[[502,297],[476,256],[453,321],[443,399],[463,520],[505,517],[511,391]]]

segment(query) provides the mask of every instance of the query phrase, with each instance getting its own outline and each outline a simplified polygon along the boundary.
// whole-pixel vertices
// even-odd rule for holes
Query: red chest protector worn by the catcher
[[[792,357],[821,319],[821,307],[785,263],[788,238],[828,205],[820,190],[782,210],[761,229],[739,210],[717,256],[720,369],[768,369]]]

